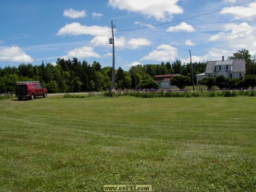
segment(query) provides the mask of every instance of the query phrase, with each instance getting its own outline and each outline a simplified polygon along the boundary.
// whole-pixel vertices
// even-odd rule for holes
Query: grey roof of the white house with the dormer
[[[245,73],[245,59],[234,59],[225,61],[207,61],[205,74],[215,72],[215,66],[231,65],[231,73],[244,72]]]

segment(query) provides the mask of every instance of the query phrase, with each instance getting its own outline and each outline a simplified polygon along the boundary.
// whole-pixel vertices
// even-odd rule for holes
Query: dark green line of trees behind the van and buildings
[[[248,50],[239,50],[228,59],[245,59],[246,74],[256,74],[255,56]],[[194,82],[196,74],[204,73],[206,62],[193,62]],[[107,91],[111,87],[112,67],[103,67],[97,61],[89,64],[78,58],[57,59],[56,65],[42,62],[41,65],[22,63],[18,67],[0,68],[0,93],[14,92],[18,81],[40,81],[49,93]],[[172,63],[146,64],[132,66],[128,71],[121,67],[115,69],[115,89],[136,89],[152,83],[156,75],[181,74],[186,85],[191,85],[191,65],[176,60]],[[189,79],[188,79],[189,78]],[[179,82],[178,82],[179,83]],[[182,85],[183,86],[183,85]]]

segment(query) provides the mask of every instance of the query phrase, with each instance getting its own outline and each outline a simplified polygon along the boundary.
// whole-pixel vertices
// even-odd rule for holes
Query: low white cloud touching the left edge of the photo
[[[0,61],[32,62],[33,58],[20,47],[0,47]]]

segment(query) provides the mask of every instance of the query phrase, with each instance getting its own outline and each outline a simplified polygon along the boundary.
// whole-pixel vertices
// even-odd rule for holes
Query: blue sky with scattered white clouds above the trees
[[[256,55],[256,1],[1,0],[0,67],[58,58],[115,68]],[[190,50],[190,53],[189,53]]]

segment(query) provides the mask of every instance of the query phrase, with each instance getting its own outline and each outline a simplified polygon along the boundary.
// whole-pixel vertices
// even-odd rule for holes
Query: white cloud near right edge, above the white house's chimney
[[[246,38],[252,35],[253,28],[247,23],[243,22],[239,25],[235,23],[227,24],[225,29],[218,34],[210,37],[209,41],[231,41],[237,38]]]

